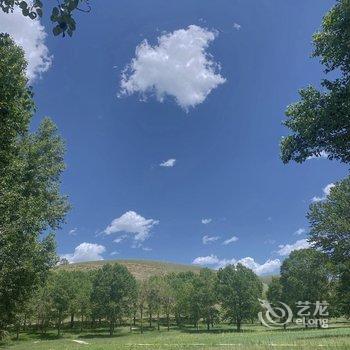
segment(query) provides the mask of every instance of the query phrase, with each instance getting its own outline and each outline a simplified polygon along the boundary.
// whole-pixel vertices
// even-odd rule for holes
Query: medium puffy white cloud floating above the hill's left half
[[[143,242],[149,237],[151,228],[157,224],[158,220],[146,219],[134,211],[127,211],[114,219],[104,232],[107,235],[117,232],[132,233],[136,241]]]

